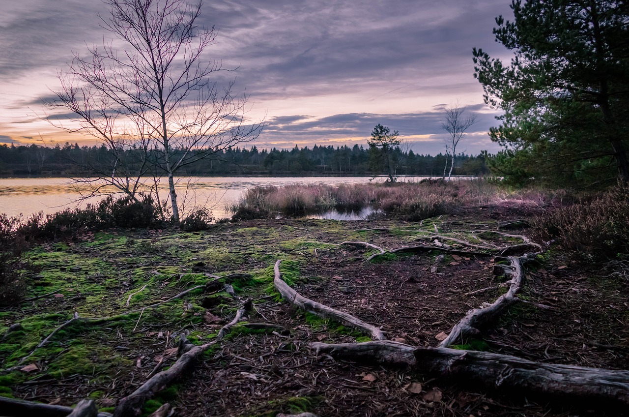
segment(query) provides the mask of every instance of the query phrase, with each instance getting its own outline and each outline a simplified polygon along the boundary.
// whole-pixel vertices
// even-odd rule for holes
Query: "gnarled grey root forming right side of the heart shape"
[[[445,348],[455,343],[464,343],[468,336],[479,334],[482,327],[494,321],[506,308],[518,302],[516,295],[520,292],[524,280],[522,262],[532,257],[532,254],[526,254],[520,257],[510,256],[509,261],[511,268],[506,268],[506,272],[511,275],[511,285],[508,292],[498,297],[490,306],[470,310],[467,316],[463,317],[459,323],[455,324],[450,334],[448,334],[448,337],[439,344],[439,347]]]

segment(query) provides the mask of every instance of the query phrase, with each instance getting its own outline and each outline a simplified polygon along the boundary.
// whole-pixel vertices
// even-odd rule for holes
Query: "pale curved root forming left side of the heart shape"
[[[281,260],[277,260],[275,264],[275,277],[273,278],[273,285],[279,294],[281,294],[282,297],[290,304],[320,317],[328,317],[342,321],[343,323],[348,324],[348,326],[352,326],[353,328],[369,333],[371,338],[374,340],[386,340],[384,333],[382,333],[381,329],[376,326],[365,323],[364,321],[357,319],[346,312],[335,310],[316,301],[302,297],[301,294],[296,292],[286,282],[284,282],[284,280],[282,280],[282,275],[279,271],[279,264],[281,262]]]

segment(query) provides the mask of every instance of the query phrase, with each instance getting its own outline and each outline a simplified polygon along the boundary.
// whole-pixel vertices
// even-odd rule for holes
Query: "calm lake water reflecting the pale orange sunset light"
[[[401,177],[399,181],[419,181],[428,177]],[[230,203],[238,202],[243,193],[254,186],[283,186],[288,184],[352,184],[367,183],[370,177],[202,177],[179,178],[177,195],[186,207],[203,205],[210,207],[216,219],[231,217],[226,210]],[[386,177],[377,177],[374,181],[382,182]],[[164,181],[165,182],[165,181]],[[185,193],[186,184],[190,183],[192,192]],[[0,178],[0,213],[9,216],[31,215],[36,212],[54,213],[64,208],[80,207],[77,203],[81,192],[87,187],[71,184],[67,178]],[[167,189],[160,188],[161,196],[167,197]],[[96,201],[94,199],[90,200]],[[360,217],[360,215],[358,216]],[[352,218],[353,219],[353,218]],[[343,220],[352,220],[343,218]]]

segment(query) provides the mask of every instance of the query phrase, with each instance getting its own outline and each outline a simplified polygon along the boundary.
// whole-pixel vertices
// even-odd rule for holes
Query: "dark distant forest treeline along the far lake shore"
[[[134,151],[128,151],[134,152]],[[443,174],[446,156],[415,154],[396,148],[394,157],[398,161],[399,175]],[[0,146],[0,176],[89,176],[87,167],[98,167],[106,171],[112,154],[105,146],[82,146],[66,143],[64,146],[44,147],[38,145]],[[371,175],[369,148],[362,146],[295,146],[286,149],[258,149],[256,146],[231,147],[218,151],[210,159],[204,159],[184,167],[182,176],[310,176],[310,175]],[[485,159],[479,156],[459,155],[455,158],[453,174],[487,174]]]

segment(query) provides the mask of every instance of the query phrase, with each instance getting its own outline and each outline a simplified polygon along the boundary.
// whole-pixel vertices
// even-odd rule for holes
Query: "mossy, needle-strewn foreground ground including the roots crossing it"
[[[621,415],[628,268],[545,253],[529,214],[251,220],[35,248],[27,300],[0,312],[0,409]]]

